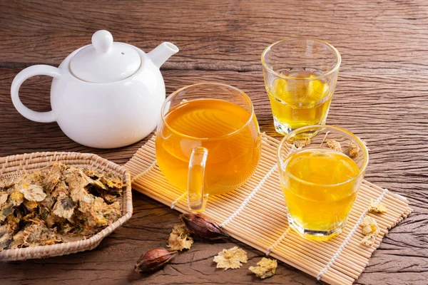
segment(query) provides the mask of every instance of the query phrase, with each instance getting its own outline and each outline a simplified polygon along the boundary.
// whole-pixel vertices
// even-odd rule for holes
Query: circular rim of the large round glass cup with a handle
[[[251,108],[251,112],[250,112],[250,117],[248,118],[248,120],[245,122],[245,124],[243,124],[240,128],[238,128],[237,130],[234,130],[233,132],[227,133],[225,135],[220,135],[218,137],[215,138],[198,138],[198,137],[193,137],[191,135],[186,135],[185,133],[181,133],[178,130],[175,130],[174,128],[172,128],[170,125],[168,125],[168,123],[165,120],[165,115],[168,113],[164,113],[163,110],[165,109],[165,106],[170,103],[171,100],[173,100],[175,97],[178,96],[179,93],[181,93],[183,90],[186,90],[188,88],[193,88],[193,87],[197,87],[197,86],[223,86],[225,88],[228,89],[232,89],[234,91],[236,91],[237,93],[240,93],[241,95],[243,95],[243,97],[245,98],[245,100],[247,101],[247,103],[250,104],[250,108]],[[218,99],[215,99],[218,100]],[[162,104],[162,108],[161,108],[161,118],[162,118],[162,122],[163,124],[173,133],[175,133],[176,135],[180,135],[183,138],[188,138],[191,140],[221,140],[223,138],[228,138],[231,135],[234,135],[235,133],[238,133],[240,130],[243,130],[243,128],[245,128],[248,124],[250,124],[250,122],[253,120],[253,116],[254,116],[255,112],[254,112],[254,105],[253,102],[251,101],[250,97],[243,91],[240,90],[239,88],[236,88],[234,86],[230,86],[228,84],[224,84],[224,83],[217,83],[217,82],[203,82],[203,83],[194,83],[194,84],[190,84],[188,86],[184,86],[182,88],[179,88],[178,90],[175,90],[173,93],[171,93],[168,98],[166,98],[165,102],[163,102]]]

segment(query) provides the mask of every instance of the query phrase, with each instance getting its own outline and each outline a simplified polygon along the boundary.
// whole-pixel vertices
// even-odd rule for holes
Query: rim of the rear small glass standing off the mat
[[[327,71],[327,73],[322,74],[322,76],[316,76],[316,77],[293,77],[293,76],[285,76],[281,73],[278,73],[277,71],[274,71],[272,68],[270,68],[269,66],[267,66],[267,63],[265,61],[265,57],[268,51],[270,51],[270,48],[272,48],[273,46],[277,45],[278,43],[283,43],[285,41],[317,41],[318,43],[322,43],[325,44],[326,46],[330,47],[336,54],[337,56],[337,62],[335,67],[333,67],[332,69],[330,69],[330,71]],[[339,51],[337,51],[337,48],[335,48],[334,46],[332,46],[330,43],[327,43],[327,41],[322,41],[322,40],[318,40],[317,38],[283,38],[280,41],[275,41],[275,43],[271,43],[269,46],[267,46],[265,48],[265,50],[262,53],[262,66],[263,68],[267,69],[267,71],[270,71],[271,73],[275,74],[275,76],[279,77],[279,78],[283,78],[283,79],[287,79],[287,80],[306,80],[306,81],[314,81],[314,80],[319,80],[321,78],[325,78],[327,76],[330,76],[330,74],[335,73],[339,68],[340,68],[340,63],[342,63],[342,56],[340,56]]]

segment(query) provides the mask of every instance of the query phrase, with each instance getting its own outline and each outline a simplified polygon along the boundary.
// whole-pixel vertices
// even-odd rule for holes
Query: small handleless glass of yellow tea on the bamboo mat
[[[365,144],[342,128],[312,125],[285,135],[277,158],[292,228],[306,239],[339,234],[369,161]]]

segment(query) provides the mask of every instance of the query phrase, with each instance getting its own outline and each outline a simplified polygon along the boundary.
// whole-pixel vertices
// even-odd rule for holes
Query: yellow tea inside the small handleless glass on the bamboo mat
[[[334,230],[343,227],[357,197],[359,183],[351,178],[360,169],[354,160],[335,150],[307,148],[292,153],[282,167],[282,191],[298,232],[311,232],[309,239],[320,232],[323,240],[338,234]]]

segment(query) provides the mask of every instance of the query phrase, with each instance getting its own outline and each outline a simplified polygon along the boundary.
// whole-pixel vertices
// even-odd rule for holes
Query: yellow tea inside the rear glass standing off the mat
[[[290,71],[286,76],[302,78],[276,78],[267,88],[275,128],[280,133],[307,125],[324,124],[332,100],[332,88],[323,79],[308,81],[322,75],[316,71]]]

